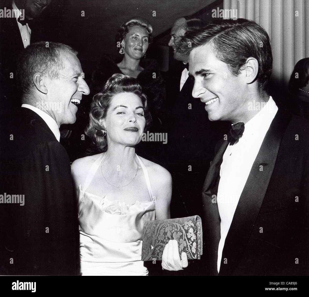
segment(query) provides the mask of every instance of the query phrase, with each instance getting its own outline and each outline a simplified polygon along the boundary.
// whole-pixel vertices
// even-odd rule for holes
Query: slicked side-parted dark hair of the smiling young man
[[[210,43],[215,57],[226,63],[237,76],[249,57],[259,62],[256,80],[267,90],[273,65],[270,40],[258,23],[248,19],[224,19],[208,23],[204,28],[188,32],[176,44],[176,51],[188,55],[192,49]]]

